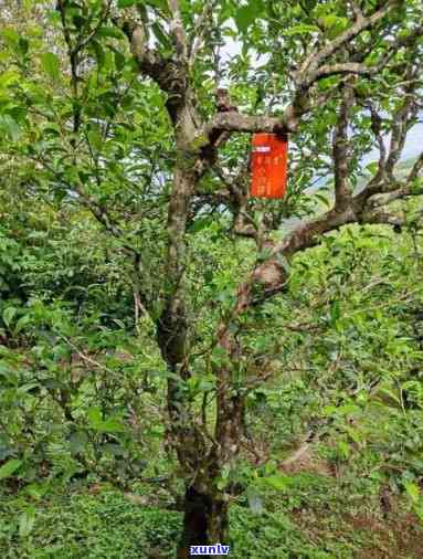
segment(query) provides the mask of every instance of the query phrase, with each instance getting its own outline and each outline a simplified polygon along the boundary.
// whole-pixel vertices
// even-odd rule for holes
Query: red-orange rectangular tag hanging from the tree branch
[[[283,198],[286,190],[288,141],[277,134],[254,134],[251,196]]]

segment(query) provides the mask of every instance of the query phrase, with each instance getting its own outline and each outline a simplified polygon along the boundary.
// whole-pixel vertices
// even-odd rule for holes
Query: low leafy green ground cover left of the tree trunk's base
[[[140,507],[121,494],[74,494],[35,507],[33,527],[22,535],[28,504],[12,499],[0,505],[0,550],[4,559],[149,557],[160,546],[171,557],[180,515]],[[28,530],[27,530],[28,531]]]

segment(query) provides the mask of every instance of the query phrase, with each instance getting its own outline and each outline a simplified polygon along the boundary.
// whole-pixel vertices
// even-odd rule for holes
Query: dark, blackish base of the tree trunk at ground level
[[[191,546],[228,545],[228,502],[193,487],[188,487],[184,499],[183,531],[178,559],[190,559]],[[211,556],[202,556],[211,557]]]

